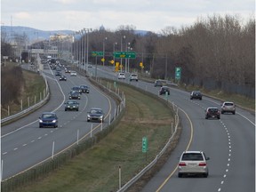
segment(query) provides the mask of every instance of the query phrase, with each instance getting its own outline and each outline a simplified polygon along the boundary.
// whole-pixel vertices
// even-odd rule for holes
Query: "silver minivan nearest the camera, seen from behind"
[[[184,151],[180,156],[178,164],[178,177],[188,175],[209,175],[207,162],[210,158],[206,157],[203,151]]]

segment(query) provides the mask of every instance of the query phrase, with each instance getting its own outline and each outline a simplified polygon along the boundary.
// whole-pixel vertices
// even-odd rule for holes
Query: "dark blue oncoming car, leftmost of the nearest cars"
[[[41,127],[58,127],[58,116],[53,112],[44,112],[39,117],[39,128]]]

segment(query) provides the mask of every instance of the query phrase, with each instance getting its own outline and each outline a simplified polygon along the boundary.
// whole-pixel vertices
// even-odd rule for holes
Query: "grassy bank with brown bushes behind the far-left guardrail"
[[[44,78],[35,72],[23,70],[17,63],[7,62],[1,67],[1,118],[20,112],[43,98]]]

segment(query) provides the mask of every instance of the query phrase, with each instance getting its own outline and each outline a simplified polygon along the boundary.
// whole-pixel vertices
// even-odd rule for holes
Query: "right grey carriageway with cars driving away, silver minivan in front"
[[[127,78],[117,80],[112,68],[99,68],[98,76],[133,84],[156,94],[159,90],[140,79],[132,83]],[[255,191],[255,114],[236,107],[236,115],[223,114],[220,120],[207,120],[205,109],[220,108],[221,101],[206,96],[203,100],[190,100],[189,94],[175,87],[171,89],[168,100],[179,107],[182,121],[180,141],[161,171],[141,191]],[[210,157],[208,178],[178,178],[177,165],[184,150],[202,150]]]

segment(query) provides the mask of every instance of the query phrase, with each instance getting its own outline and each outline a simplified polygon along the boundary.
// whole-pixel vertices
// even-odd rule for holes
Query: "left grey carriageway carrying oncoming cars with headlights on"
[[[99,130],[100,123],[86,121],[90,108],[103,109],[103,128],[108,125],[109,114],[114,116],[115,101],[90,84],[84,76],[66,74],[67,82],[60,82],[59,76],[55,76],[49,68],[44,70],[44,74],[49,83],[51,100],[34,113],[1,128],[2,180],[51,158],[52,151],[56,155],[64,148],[76,144],[77,140],[90,135],[91,127]],[[83,93],[81,100],[78,100],[79,111],[65,111],[63,104],[68,100],[68,92],[71,87],[80,84],[89,85],[90,93]],[[59,117],[58,128],[39,128],[38,117],[45,111],[56,112]]]

